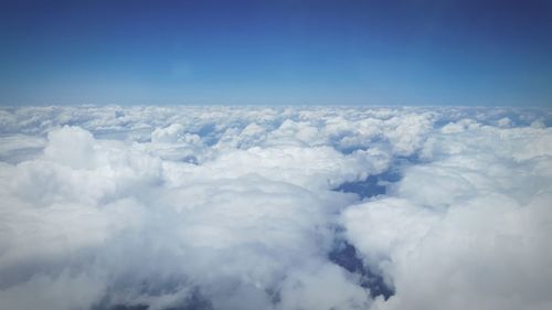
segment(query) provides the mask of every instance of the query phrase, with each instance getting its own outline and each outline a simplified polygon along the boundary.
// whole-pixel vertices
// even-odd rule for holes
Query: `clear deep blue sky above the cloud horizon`
[[[552,1],[0,1],[0,104],[552,106]]]

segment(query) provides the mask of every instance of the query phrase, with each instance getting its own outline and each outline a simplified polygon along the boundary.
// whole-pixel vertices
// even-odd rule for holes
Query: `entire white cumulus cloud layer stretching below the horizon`
[[[549,309],[550,119],[2,108],[0,304]]]

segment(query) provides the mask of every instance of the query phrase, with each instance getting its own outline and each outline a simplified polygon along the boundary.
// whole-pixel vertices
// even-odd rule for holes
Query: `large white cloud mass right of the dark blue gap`
[[[552,149],[532,146],[552,132],[448,128],[390,196],[343,213],[350,242],[396,289],[374,308],[549,308]]]

